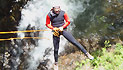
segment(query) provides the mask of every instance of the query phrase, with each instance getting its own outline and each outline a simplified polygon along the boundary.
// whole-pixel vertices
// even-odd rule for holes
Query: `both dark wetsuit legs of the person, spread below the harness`
[[[76,39],[72,36],[72,34],[70,32],[64,30],[62,34],[69,42],[71,42],[73,45],[77,46],[77,48],[79,48],[84,54],[87,53],[87,51],[84,49],[84,47],[79,42],[76,41]],[[55,62],[58,62],[59,42],[60,42],[60,37],[53,35]]]

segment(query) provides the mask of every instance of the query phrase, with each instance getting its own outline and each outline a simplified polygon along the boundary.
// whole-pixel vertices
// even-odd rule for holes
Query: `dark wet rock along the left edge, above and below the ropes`
[[[28,2],[29,0],[20,0],[16,2],[16,0],[0,0],[0,32],[1,31],[17,31],[17,26],[19,24],[19,21],[21,19],[21,9],[22,7]],[[0,39],[4,38],[13,38],[17,37],[15,34],[0,34]],[[19,48],[18,46],[15,46],[14,44],[11,45],[11,41],[0,41],[0,50],[2,48],[2,51],[0,52],[0,55],[4,54],[5,51],[10,51],[10,54],[5,53],[4,63],[1,63],[0,61],[0,67],[6,70],[10,70],[10,68],[13,68],[11,70],[17,70],[17,65],[19,62],[17,59],[15,59],[15,56],[19,56]],[[13,47],[14,46],[14,47]],[[5,47],[5,48],[4,48]],[[12,57],[12,58],[10,58]],[[3,60],[3,59],[2,59]],[[9,68],[9,65],[13,65]],[[4,65],[4,67],[3,67]],[[0,69],[2,69],[0,68]]]

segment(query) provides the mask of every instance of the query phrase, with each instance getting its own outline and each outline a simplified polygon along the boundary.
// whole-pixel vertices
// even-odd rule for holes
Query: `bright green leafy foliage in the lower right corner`
[[[109,43],[110,41],[105,41],[105,47],[101,51],[94,52],[94,60],[82,60],[81,63],[78,63],[78,67],[75,70],[80,70],[87,63],[91,64],[93,70],[100,70],[100,68],[104,70],[123,70],[123,46],[117,43],[114,51],[108,52],[106,47],[111,47]]]

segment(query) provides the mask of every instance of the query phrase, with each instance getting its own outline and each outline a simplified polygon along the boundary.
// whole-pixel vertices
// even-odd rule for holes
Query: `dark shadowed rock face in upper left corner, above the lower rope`
[[[0,0],[0,31],[16,31],[21,19],[21,9],[28,0]],[[16,34],[0,35],[0,38],[16,37]]]

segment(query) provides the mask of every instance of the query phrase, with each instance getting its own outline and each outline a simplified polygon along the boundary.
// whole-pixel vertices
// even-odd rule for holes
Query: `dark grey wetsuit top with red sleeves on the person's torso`
[[[66,23],[64,22],[66,21]],[[51,24],[50,24],[51,21]],[[67,14],[64,11],[60,11],[60,13],[54,14],[52,11],[48,13],[46,18],[46,26],[50,29],[53,29],[54,27],[61,27],[66,28],[70,24],[70,20],[67,16]]]

